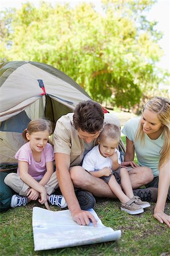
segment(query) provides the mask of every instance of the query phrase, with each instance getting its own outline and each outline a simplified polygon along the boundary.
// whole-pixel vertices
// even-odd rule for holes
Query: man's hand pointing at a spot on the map
[[[76,212],[72,213],[72,218],[77,222],[78,225],[85,226],[92,222],[93,226],[97,226],[96,219],[88,210],[77,210]]]

